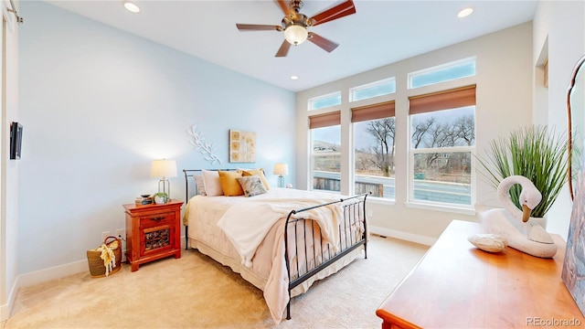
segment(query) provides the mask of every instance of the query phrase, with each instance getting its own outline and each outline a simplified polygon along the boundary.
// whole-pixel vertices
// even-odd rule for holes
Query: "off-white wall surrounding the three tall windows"
[[[445,83],[441,88],[477,84],[475,113],[477,154],[483,154],[487,143],[498,136],[507,135],[518,126],[529,125],[532,122],[533,73],[530,22],[297,93],[297,186],[307,186],[307,180],[304,179],[309,161],[307,100],[341,90],[340,109],[344,134],[342,141],[344,139],[348,141],[350,132],[349,129],[344,128],[344,125],[348,126],[350,108],[356,105],[348,102],[347,90],[367,82],[394,76],[397,81],[396,93],[370,102],[396,100],[396,203],[389,205],[370,201],[368,208],[373,210],[370,225],[375,227],[373,230],[378,230],[382,234],[431,243],[453,218],[476,220],[473,210],[468,211],[466,215],[455,211],[444,212],[407,207],[406,178],[409,142],[408,96],[413,92],[406,89],[407,74],[418,69],[473,56],[477,58],[476,76]],[[421,88],[416,92],[429,92],[433,91],[433,88],[437,87]],[[364,104],[360,102],[359,105]],[[346,153],[352,152],[347,145],[345,147]],[[342,163],[341,171],[342,177],[348,175],[348,166]],[[498,206],[495,190],[479,178],[477,182],[477,202],[487,206]],[[347,190],[342,190],[342,192],[349,193]]]

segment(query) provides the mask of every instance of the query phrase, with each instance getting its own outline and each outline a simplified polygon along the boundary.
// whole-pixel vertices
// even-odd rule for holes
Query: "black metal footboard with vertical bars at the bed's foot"
[[[293,210],[289,213],[284,227],[284,260],[289,277],[287,320],[291,319],[291,292],[296,286],[362,245],[364,246],[364,256],[367,259],[366,198],[369,194],[371,193],[341,198],[338,201]],[[347,203],[348,200],[352,200],[352,202]],[[344,204],[344,202],[346,203]],[[339,249],[337,251],[333,250],[331,244],[322,240],[320,229],[314,220],[293,218],[293,215],[304,211],[334,204],[343,204],[341,206],[343,207],[343,217],[339,223]],[[289,234],[292,234],[294,239],[289,239]],[[297,243],[299,240],[304,243]]]

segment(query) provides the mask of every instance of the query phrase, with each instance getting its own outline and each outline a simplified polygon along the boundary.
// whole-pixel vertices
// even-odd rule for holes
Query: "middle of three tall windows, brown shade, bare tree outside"
[[[395,103],[353,108],[354,186],[356,194],[394,199]]]

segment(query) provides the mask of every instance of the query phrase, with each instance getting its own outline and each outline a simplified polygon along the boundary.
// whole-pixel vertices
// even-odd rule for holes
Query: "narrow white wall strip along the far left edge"
[[[15,2],[18,10],[18,2]],[[16,299],[18,274],[18,172],[19,163],[9,160],[10,122],[18,122],[18,26],[14,14],[7,12],[8,3],[0,3],[0,17],[6,19],[5,49],[0,51],[0,60],[5,55],[5,86],[2,91],[2,126],[0,127],[0,321],[7,319],[11,305]],[[0,35],[3,28],[0,27]],[[0,46],[2,49],[2,46]]]

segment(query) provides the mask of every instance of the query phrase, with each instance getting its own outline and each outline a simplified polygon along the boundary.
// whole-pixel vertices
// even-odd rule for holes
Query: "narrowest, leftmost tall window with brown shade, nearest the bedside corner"
[[[341,191],[341,113],[309,117],[313,189]]]

